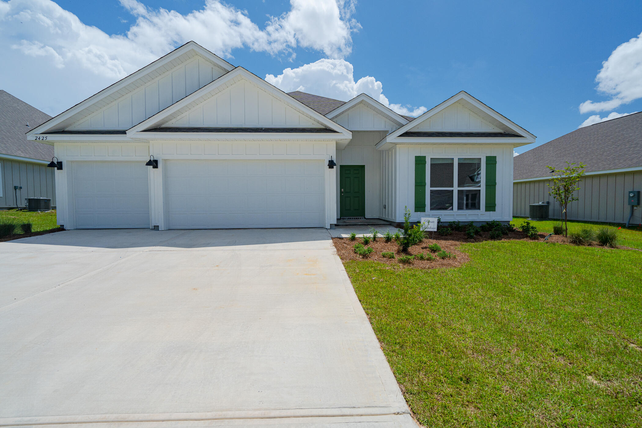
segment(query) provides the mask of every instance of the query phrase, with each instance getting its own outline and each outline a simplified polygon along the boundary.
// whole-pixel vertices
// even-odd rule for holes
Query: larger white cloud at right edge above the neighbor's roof
[[[611,56],[602,63],[602,69],[595,81],[598,83],[597,90],[611,99],[584,101],[580,104],[582,114],[614,110],[642,98],[642,33],[616,47]]]

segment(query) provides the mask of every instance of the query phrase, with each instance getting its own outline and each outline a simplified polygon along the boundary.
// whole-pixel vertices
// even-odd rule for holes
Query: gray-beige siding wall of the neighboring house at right
[[[550,180],[516,182],[513,184],[513,215],[528,217],[528,205],[539,201],[550,201],[549,215],[561,218],[560,207],[548,195]],[[569,204],[568,219],[626,223],[630,207],[627,192],[642,192],[642,171],[585,176],[578,186],[578,201]],[[642,208],[633,210],[632,225],[642,222]]]

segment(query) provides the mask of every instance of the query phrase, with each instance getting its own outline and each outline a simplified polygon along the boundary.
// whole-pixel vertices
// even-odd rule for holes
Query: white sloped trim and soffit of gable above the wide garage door
[[[259,88],[266,90],[268,94],[274,96],[275,98],[279,99],[286,105],[289,105],[291,108],[299,112],[300,114],[304,114],[304,116],[309,117],[309,119],[318,122],[325,126],[326,128],[329,128],[330,130],[333,130],[334,132],[332,135],[334,135],[333,139],[336,140],[343,140],[352,138],[352,133],[343,128],[340,124],[332,121],[331,119],[328,119],[327,117],[323,116],[322,114],[316,112],[312,108],[306,106],[305,104],[301,103],[300,101],[297,101],[297,99],[292,98],[290,95],[286,94],[282,90],[278,89],[277,87],[274,87],[273,85],[270,85],[270,83],[266,82],[265,80],[259,78],[255,74],[250,73],[243,67],[236,67],[234,70],[230,71],[227,74],[224,74],[220,78],[211,81],[211,83],[208,83],[201,89],[196,90],[189,96],[186,96],[185,98],[181,99],[180,101],[177,101],[176,103],[170,105],[167,108],[164,108],[164,110],[161,110],[154,116],[145,119],[139,124],[136,124],[132,126],[132,128],[127,130],[127,135],[128,137],[135,137],[137,139],[148,139],[151,137],[150,133],[146,132],[146,130],[152,129],[152,128],[159,128],[163,124],[171,122],[173,119],[176,119],[177,117],[181,116],[182,114],[185,114],[187,111],[189,111],[191,108],[194,108],[201,103],[203,103],[205,100],[212,98],[214,95],[216,95],[220,91],[214,92],[214,90],[221,88],[221,90],[227,89],[230,85],[236,83],[237,81],[240,81],[239,79],[245,79],[249,81],[250,83],[254,83],[257,85]],[[250,126],[247,126],[247,128],[250,128]],[[169,133],[162,133],[163,135],[169,134]],[[180,134],[180,135],[178,135]],[[157,135],[157,133],[154,133],[153,135]],[[175,137],[184,137],[184,138],[190,138],[194,137],[194,132],[186,132],[186,133],[175,133]],[[213,133],[209,133],[209,135],[212,135],[214,137]],[[239,135],[239,133],[234,133],[234,135]],[[253,133],[254,139],[256,139],[257,134]],[[294,134],[286,134],[288,139],[292,137]],[[302,135],[309,135],[307,133],[300,133],[297,134],[299,136]],[[323,134],[316,133],[315,136],[319,136]],[[305,137],[304,139],[308,139],[308,137]],[[347,144],[347,143],[346,143]]]

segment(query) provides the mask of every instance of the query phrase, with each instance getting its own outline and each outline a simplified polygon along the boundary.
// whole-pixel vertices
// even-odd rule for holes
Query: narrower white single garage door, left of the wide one
[[[73,162],[77,228],[150,227],[145,162]]]

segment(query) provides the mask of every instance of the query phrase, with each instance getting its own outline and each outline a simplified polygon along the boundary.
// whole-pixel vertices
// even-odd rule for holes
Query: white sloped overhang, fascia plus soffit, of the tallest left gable
[[[40,124],[40,126],[37,126],[36,128],[33,128],[33,130],[30,130],[30,132],[27,133],[28,137],[31,135],[35,134],[44,134],[48,131],[51,130],[62,130],[66,126],[71,126],[71,124],[76,123],[78,120],[82,119],[82,117],[85,116],[91,116],[93,112],[89,112],[87,115],[82,116],[82,117],[74,117],[77,114],[81,114],[85,108],[89,108],[92,105],[95,105],[96,103],[101,103],[105,98],[108,98],[110,96],[114,96],[117,92],[125,89],[128,85],[131,85],[135,81],[139,79],[144,79],[148,74],[154,73],[159,69],[160,67],[164,67],[164,65],[169,64],[172,61],[177,60],[181,56],[194,56],[194,55],[200,55],[203,56],[205,59],[211,61],[214,65],[219,67],[221,71],[227,73],[234,69],[234,65],[230,64],[229,62],[223,60],[219,56],[214,55],[214,53],[211,53],[204,47],[200,46],[196,42],[187,42],[183,46],[177,47],[177,49],[174,49],[167,55],[164,55],[160,57],[159,59],[155,60],[151,64],[146,65],[142,69],[139,69],[138,71],[135,71],[134,73],[130,74],[129,76],[126,76],[125,78],[117,81],[116,83],[108,86],[107,88],[101,90],[100,92],[92,95],[91,97],[85,99],[84,101],[81,101],[80,103],[74,105],[73,107],[65,110],[61,114],[58,114],[58,116],[52,117],[48,121],[46,121],[43,124]],[[187,61],[187,60],[186,60]],[[183,61],[185,62],[185,61]],[[171,69],[170,69],[171,70]],[[168,71],[163,71],[160,74],[164,74]],[[155,76],[157,77],[157,76]],[[154,77],[154,78],[155,78]],[[141,84],[143,85],[143,84]],[[137,89],[137,88],[136,88]],[[133,92],[135,89],[132,89],[128,92]],[[120,98],[121,96],[125,96],[125,94],[121,94],[117,96],[114,99],[110,99],[109,102],[114,101],[117,98]],[[103,101],[104,103],[104,101]],[[104,107],[104,105],[107,105],[108,103],[104,103],[103,105],[100,106]],[[71,121],[71,123],[67,123]],[[62,126],[62,128],[61,128]],[[61,128],[61,129],[58,129]],[[31,139],[31,138],[30,138]]]

